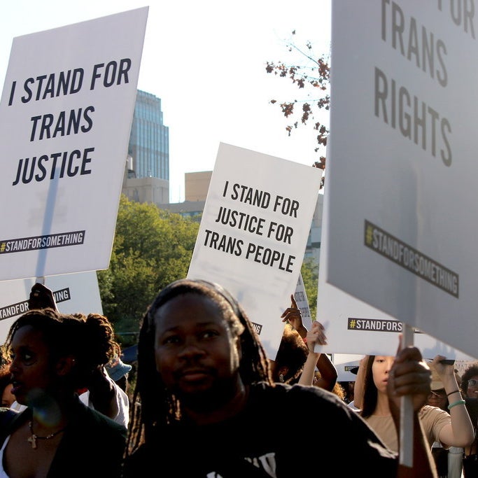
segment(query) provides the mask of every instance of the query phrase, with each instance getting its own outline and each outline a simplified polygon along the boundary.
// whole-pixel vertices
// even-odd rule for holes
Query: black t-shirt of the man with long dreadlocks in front
[[[233,419],[169,426],[125,463],[125,478],[395,476],[398,461],[356,412],[317,387],[258,384]]]

